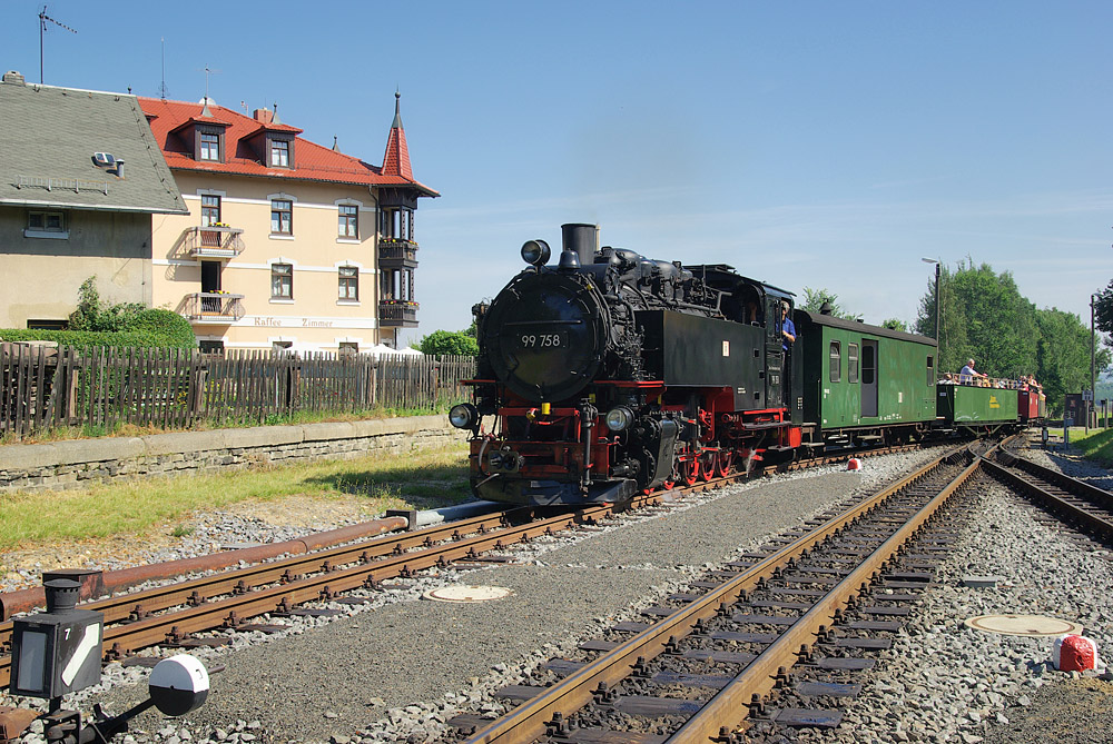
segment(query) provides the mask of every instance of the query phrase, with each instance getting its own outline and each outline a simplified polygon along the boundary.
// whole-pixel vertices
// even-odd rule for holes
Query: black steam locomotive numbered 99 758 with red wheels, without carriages
[[[479,497],[619,502],[792,456],[800,359],[780,325],[791,294],[725,265],[600,248],[594,225],[561,229],[555,266],[545,241],[528,241],[529,267],[473,308],[472,401],[450,419],[473,434]]]

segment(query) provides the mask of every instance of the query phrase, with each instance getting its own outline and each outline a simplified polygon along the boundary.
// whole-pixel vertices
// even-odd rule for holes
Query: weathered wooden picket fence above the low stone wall
[[[0,344],[0,435],[59,426],[188,428],[298,411],[436,409],[462,398],[472,357],[77,349]]]

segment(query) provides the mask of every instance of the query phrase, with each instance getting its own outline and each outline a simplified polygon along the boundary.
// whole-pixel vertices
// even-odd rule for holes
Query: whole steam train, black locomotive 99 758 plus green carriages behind
[[[449,418],[472,433],[480,498],[622,502],[801,452],[1017,423],[1011,390],[1011,409],[965,421],[965,389],[946,390],[953,413],[937,417],[930,338],[795,310],[791,292],[727,265],[600,248],[594,225],[561,230],[555,266],[526,241],[529,267],[472,308],[472,400]]]

